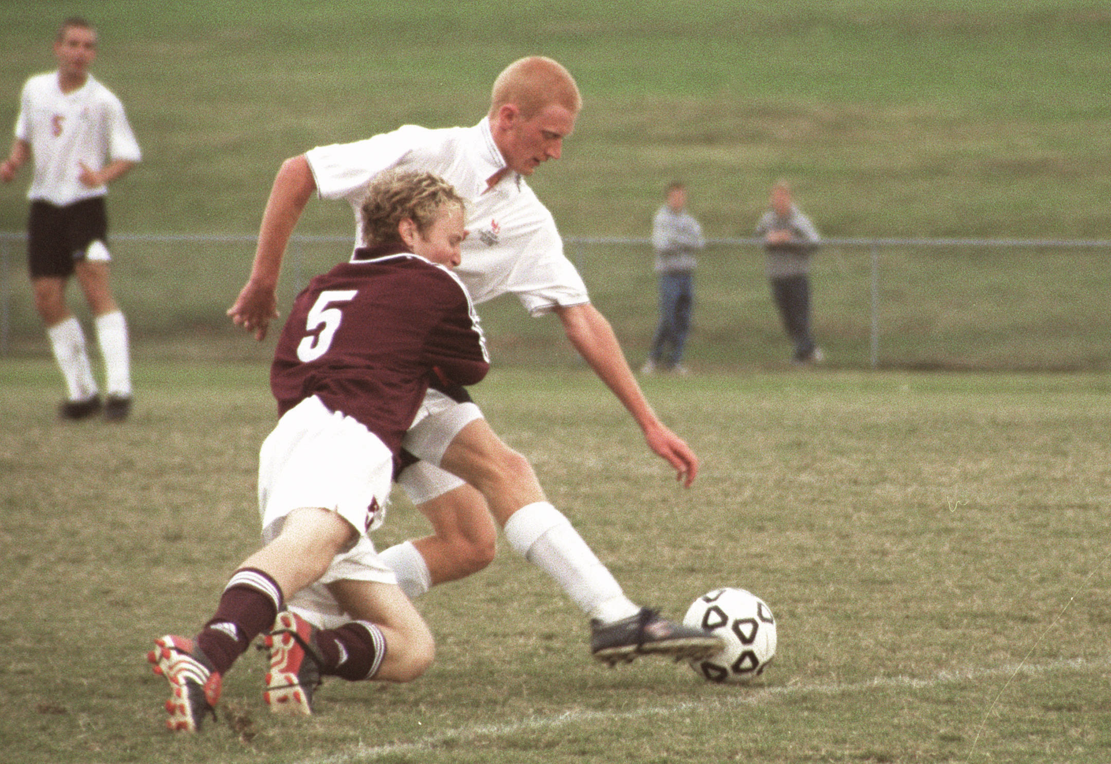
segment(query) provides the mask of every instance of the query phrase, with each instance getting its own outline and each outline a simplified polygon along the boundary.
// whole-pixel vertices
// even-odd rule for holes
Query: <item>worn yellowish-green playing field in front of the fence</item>
[[[264,364],[140,363],[133,419],[64,426],[57,373],[0,386],[0,745],[58,762],[1105,762],[1109,381],[757,373],[649,380],[702,458],[685,492],[585,372],[499,371],[488,418],[637,600],[762,595],[780,650],[750,687],[587,656],[582,616],[502,547],[418,604],[410,685],[327,684],[271,717],[263,660],[221,723],[162,728],[150,640],[192,632],[257,544]],[[46,476],[44,470],[50,476]],[[381,544],[423,533],[399,500]]]

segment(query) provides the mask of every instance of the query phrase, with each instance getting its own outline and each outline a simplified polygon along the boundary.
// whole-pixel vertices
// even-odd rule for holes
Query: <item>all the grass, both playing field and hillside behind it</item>
[[[110,198],[116,232],[250,237],[286,157],[403,122],[473,123],[494,74],[534,52],[585,96],[563,159],[531,181],[564,234],[647,235],[674,175],[713,238],[748,235],[783,175],[830,237],[1111,230],[1103,2],[8,2],[0,125],[71,12],[100,26],[94,72],[146,153]],[[0,232],[23,229],[27,180],[0,189]],[[313,202],[299,232],[350,229],[346,205]],[[503,544],[419,601],[438,660],[418,682],[332,682],[312,718],[274,718],[263,660],[247,655],[196,738],[166,733],[143,656],[196,631],[257,546],[272,342],[232,336],[223,315],[249,240],[113,251],[138,391],[114,428],[56,421],[61,382],[9,253],[0,758],[1111,760],[1105,250],[884,250],[870,373],[869,253],[827,249],[815,320],[831,363],[792,373],[759,254],[711,249],[699,373],[645,380],[702,458],[689,492],[557,321],[526,321],[511,298],[483,306],[496,369],[477,398],[551,500],[638,601],[679,615],[720,585],[764,597],[775,664],[741,688],[665,663],[597,666],[582,616]],[[649,257],[574,253],[634,363],[655,316]],[[337,259],[331,244],[292,253],[283,299],[298,270]],[[399,500],[377,542],[426,529]]]

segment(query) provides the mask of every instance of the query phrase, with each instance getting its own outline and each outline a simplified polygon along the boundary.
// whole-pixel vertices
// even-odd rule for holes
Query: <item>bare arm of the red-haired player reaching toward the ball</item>
[[[557,308],[556,313],[574,349],[637,420],[648,446],[675,469],[675,480],[690,487],[698,476],[698,456],[652,411],[610,322],[589,302]]]

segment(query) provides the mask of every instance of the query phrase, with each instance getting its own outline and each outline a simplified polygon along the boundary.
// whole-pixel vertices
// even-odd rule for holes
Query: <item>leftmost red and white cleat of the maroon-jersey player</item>
[[[220,674],[212,671],[204,653],[193,647],[192,640],[173,634],[159,637],[147,661],[170,683],[170,700],[166,702],[170,732],[198,732],[207,714],[216,721]]]

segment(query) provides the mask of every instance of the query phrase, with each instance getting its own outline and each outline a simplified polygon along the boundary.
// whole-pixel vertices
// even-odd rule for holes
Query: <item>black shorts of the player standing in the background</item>
[[[66,207],[36,200],[27,222],[27,264],[31,278],[73,275],[73,263],[86,259],[89,244],[108,243],[108,212],[103,197]],[[107,259],[108,250],[94,257]]]

